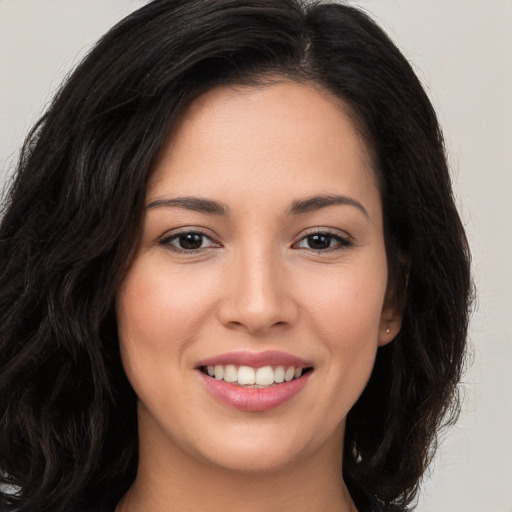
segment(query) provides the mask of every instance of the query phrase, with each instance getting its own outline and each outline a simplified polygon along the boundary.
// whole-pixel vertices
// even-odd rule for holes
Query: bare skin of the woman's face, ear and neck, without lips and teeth
[[[334,194],[349,200],[290,213]],[[162,204],[191,196],[229,211]],[[117,298],[140,438],[118,512],[354,511],[340,471],[345,418],[401,319],[386,294],[380,193],[343,106],[289,81],[207,92],[170,134],[147,205]],[[171,238],[198,230],[196,252]],[[327,248],[311,248],[318,232]],[[240,411],[197,370],[233,350],[284,351],[314,371],[289,402]]]

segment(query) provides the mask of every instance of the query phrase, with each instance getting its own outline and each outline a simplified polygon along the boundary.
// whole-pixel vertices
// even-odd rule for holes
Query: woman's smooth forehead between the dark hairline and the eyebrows
[[[148,196],[225,193],[234,183],[295,195],[375,189],[348,109],[312,85],[221,86],[195,99],[164,145]],[[323,189],[323,190],[320,190]],[[291,192],[291,191],[290,191]],[[344,192],[344,191],[339,191]]]

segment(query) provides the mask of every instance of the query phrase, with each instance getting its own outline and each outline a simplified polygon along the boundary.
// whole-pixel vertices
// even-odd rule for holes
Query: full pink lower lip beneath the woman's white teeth
[[[296,396],[309,380],[312,372],[298,379],[268,388],[248,388],[217,380],[199,372],[210,393],[220,402],[240,411],[262,412],[275,409]]]

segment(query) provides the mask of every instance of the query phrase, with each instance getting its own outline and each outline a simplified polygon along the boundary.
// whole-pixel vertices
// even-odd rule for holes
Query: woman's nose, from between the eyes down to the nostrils
[[[224,326],[258,335],[297,320],[289,273],[276,251],[240,251],[228,267],[218,309]]]

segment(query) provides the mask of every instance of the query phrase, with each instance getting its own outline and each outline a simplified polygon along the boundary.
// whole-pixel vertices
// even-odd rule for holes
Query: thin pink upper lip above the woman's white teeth
[[[209,357],[208,359],[199,361],[197,367],[215,366],[218,364],[234,364],[236,366],[251,366],[252,368],[261,368],[262,366],[309,368],[313,366],[310,361],[306,361],[292,354],[287,354],[286,352],[280,352],[279,350],[267,350],[262,352],[242,350]]]

